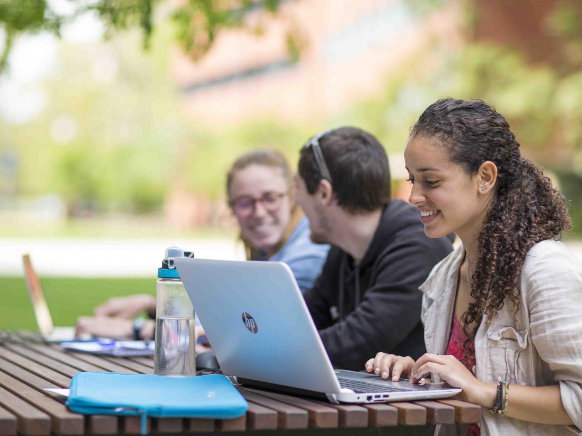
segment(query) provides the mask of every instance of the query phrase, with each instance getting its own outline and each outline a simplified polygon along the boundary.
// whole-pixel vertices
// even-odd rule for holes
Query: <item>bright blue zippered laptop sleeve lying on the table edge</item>
[[[66,406],[85,414],[232,419],[248,405],[228,378],[219,374],[164,377],[151,374],[83,372],[71,380]]]

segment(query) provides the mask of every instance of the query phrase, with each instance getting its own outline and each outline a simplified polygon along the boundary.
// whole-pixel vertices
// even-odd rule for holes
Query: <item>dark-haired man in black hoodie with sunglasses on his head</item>
[[[311,138],[296,183],[311,239],[332,245],[305,300],[333,366],[364,369],[378,350],[420,357],[418,287],[451,240],[428,238],[417,208],[390,199],[384,147],[359,128]]]

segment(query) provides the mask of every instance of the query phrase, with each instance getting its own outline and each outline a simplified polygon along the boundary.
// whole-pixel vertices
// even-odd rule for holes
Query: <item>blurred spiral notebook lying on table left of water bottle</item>
[[[151,356],[155,351],[154,341],[113,341],[95,339],[94,341],[61,342],[61,347],[69,351],[98,354],[105,356]]]

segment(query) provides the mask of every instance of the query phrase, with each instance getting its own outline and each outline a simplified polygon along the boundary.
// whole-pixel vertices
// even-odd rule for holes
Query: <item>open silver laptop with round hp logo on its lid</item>
[[[241,384],[333,403],[445,398],[461,391],[334,370],[285,263],[176,258],[175,265],[223,373]]]

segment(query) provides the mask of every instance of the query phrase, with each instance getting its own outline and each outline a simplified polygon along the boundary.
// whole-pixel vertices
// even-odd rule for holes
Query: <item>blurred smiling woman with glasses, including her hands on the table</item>
[[[285,156],[272,150],[240,156],[226,176],[226,194],[240,226],[247,259],[285,262],[301,292],[310,289],[321,273],[329,245],[311,242],[309,222],[297,205],[293,174]],[[155,317],[153,296],[110,298],[95,308],[94,316],[77,320],[77,335],[152,339],[154,321],[134,319],[141,312]],[[197,329],[196,334],[198,337],[204,331]]]

